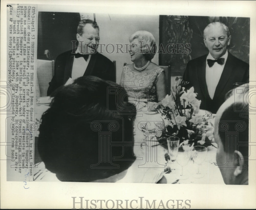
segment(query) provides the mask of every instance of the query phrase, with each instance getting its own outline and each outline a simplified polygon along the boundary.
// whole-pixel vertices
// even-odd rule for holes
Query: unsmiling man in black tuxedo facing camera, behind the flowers
[[[249,82],[249,64],[228,52],[231,35],[228,27],[220,22],[209,24],[204,30],[204,43],[209,50],[188,62],[183,80],[186,89],[194,87],[201,100],[200,109],[216,113],[225,101],[226,93],[236,83]]]

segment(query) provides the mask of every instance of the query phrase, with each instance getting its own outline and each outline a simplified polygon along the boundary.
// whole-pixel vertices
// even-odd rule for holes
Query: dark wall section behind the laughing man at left
[[[55,60],[60,53],[72,50],[71,40],[77,40],[80,20],[79,13],[39,12],[37,59]]]

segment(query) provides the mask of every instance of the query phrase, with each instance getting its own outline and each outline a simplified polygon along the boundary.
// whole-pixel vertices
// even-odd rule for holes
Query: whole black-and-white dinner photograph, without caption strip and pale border
[[[128,20],[133,24],[126,26]],[[35,137],[34,161],[39,165],[44,163],[46,171],[39,167],[35,180],[54,181],[51,178],[55,173],[60,181],[223,183],[215,158],[219,147],[214,137],[214,121],[218,109],[229,97],[228,91],[238,83],[249,82],[250,18],[177,15],[132,18],[39,12],[37,37],[40,97],[37,97],[36,120],[40,128]],[[97,51],[90,53],[88,49]],[[156,54],[158,59],[154,59]],[[103,80],[109,82],[104,84]],[[123,95],[125,90],[127,96]],[[58,92],[59,101],[55,97]],[[96,108],[99,103],[103,104]],[[116,107],[110,110],[109,106]],[[129,122],[129,117],[133,121]],[[226,120],[229,119],[227,115]],[[111,123],[119,127],[117,131],[103,130]],[[241,123],[248,128],[246,118]],[[92,129],[96,125],[102,126],[101,130]],[[110,134],[104,136],[102,132]],[[240,132],[237,135],[247,135],[244,138],[248,142],[249,131]],[[115,133],[119,134],[113,139]],[[224,135],[224,148],[225,139]],[[109,144],[107,148],[104,141]],[[180,152],[186,147],[189,154],[184,161]],[[115,149],[119,153],[115,154]],[[248,146],[243,149],[248,150]],[[243,154],[247,156],[248,153]],[[226,160],[219,161],[225,165]],[[242,173],[245,177],[239,180],[232,177],[226,184],[248,184],[248,171]],[[223,171],[223,175],[231,178],[228,172]]]

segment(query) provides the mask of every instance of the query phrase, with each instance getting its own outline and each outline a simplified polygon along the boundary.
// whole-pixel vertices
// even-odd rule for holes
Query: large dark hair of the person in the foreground
[[[127,94],[122,98],[123,104],[133,108],[127,111],[118,107],[115,97],[108,95],[109,86],[108,81],[88,76],[77,78],[73,84],[54,92],[50,108],[42,115],[38,151],[46,168],[56,173],[59,180],[104,179],[126,170],[134,162],[136,109],[128,103]],[[123,87],[117,86],[117,90],[126,93]],[[99,132],[109,134],[105,136],[111,135],[111,138],[99,139]],[[112,168],[107,160],[103,168],[91,167],[99,162],[99,141],[108,148]]]

